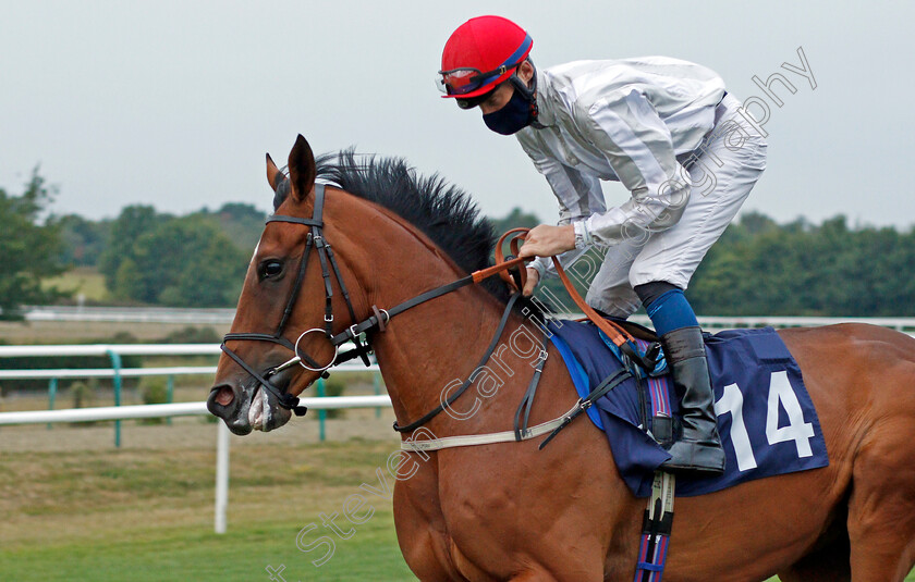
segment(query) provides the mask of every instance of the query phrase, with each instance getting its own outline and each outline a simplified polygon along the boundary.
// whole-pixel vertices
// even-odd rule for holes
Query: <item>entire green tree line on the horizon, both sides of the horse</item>
[[[37,171],[22,194],[0,189],[0,317],[64,298],[41,282],[74,267],[97,269],[120,305],[235,305],[264,228],[255,207],[175,216],[129,206],[93,221],[48,214],[53,194]],[[540,220],[515,208],[491,222],[502,233]],[[912,228],[850,226],[842,215],[779,224],[748,212],[711,248],[687,295],[709,315],[914,317],[912,265]]]

